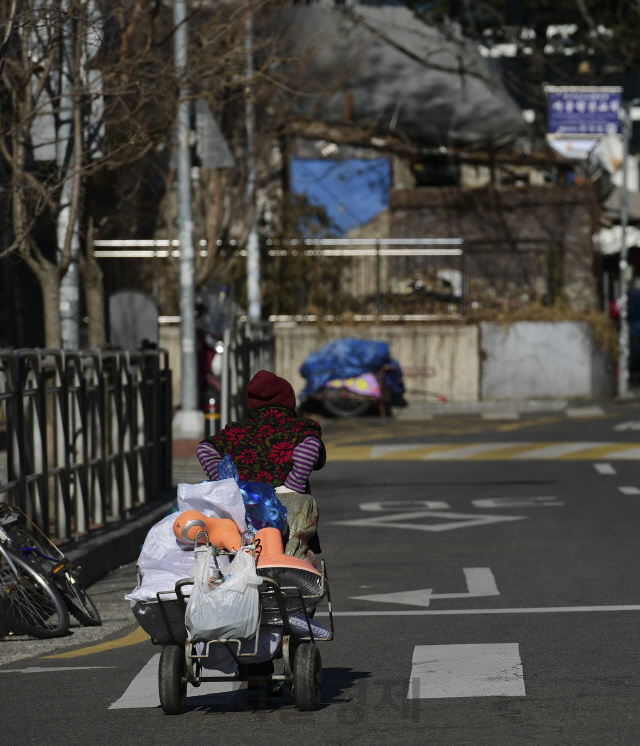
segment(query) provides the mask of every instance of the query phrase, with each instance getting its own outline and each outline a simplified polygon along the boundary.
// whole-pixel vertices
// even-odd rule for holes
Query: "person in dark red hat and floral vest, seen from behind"
[[[245,482],[275,487],[287,508],[289,538],[285,552],[316,565],[318,508],[310,495],[309,475],[324,466],[322,429],[296,415],[296,395],[284,378],[261,370],[247,386],[249,416],[231,422],[198,446],[198,459],[209,479],[218,478],[218,464],[227,454]]]

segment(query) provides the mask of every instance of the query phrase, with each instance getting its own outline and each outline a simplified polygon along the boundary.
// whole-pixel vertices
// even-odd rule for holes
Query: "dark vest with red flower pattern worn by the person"
[[[284,484],[293,467],[293,450],[306,437],[320,439],[317,422],[298,417],[281,406],[257,407],[244,422],[230,422],[222,432],[207,438],[221,456],[231,454],[240,479]]]

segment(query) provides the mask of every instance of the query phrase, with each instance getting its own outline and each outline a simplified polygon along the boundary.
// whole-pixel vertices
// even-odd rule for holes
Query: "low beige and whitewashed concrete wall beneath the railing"
[[[509,325],[397,325],[369,327],[274,325],[276,373],[304,388],[299,368],[327,342],[341,337],[384,340],[405,373],[410,403],[482,399],[611,396],[614,370],[586,322],[518,321]],[[160,327],[169,351],[173,404],[180,403],[180,327]],[[482,359],[482,362],[481,362]]]

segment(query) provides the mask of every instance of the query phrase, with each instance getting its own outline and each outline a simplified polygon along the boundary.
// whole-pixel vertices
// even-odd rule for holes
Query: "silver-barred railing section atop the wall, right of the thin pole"
[[[300,298],[287,294],[271,321],[350,314],[354,321],[464,315],[462,238],[321,238],[267,241],[269,256],[298,257]],[[292,314],[296,304],[300,311]],[[313,319],[310,318],[313,316]]]

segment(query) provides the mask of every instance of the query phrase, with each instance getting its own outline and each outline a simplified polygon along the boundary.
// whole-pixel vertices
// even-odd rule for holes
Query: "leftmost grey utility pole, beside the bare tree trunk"
[[[66,13],[66,20],[62,28],[60,108],[58,110],[58,128],[56,133],[56,162],[58,173],[63,179],[60,212],[58,213],[56,226],[58,261],[60,261],[65,236],[69,230],[71,195],[73,192],[73,179],[71,175],[76,155],[73,147],[75,46],[73,17],[70,12],[69,0],[63,0],[62,10]],[[77,217],[71,230],[73,231],[71,261],[69,269],[60,283],[60,324],[63,349],[78,350],[80,348],[80,238],[78,235]]]

